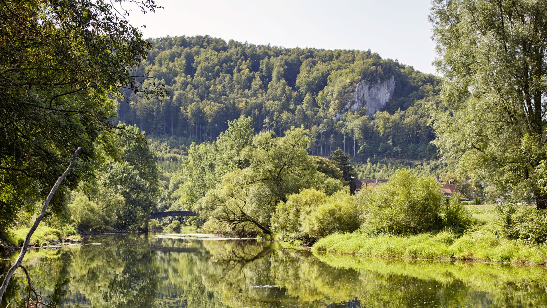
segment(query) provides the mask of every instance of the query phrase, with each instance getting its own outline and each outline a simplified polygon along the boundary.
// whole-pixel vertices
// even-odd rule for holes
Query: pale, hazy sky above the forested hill
[[[164,9],[133,10],[144,37],[210,35],[281,47],[370,49],[435,73],[429,0],[156,0]]]

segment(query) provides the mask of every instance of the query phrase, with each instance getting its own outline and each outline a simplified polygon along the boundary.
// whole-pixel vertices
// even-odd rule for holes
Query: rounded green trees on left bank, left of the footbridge
[[[140,133],[134,126],[124,132]],[[69,204],[79,229],[144,229],[156,208],[159,172],[148,145],[123,134],[113,144],[117,157],[102,166],[97,181],[82,182]]]

